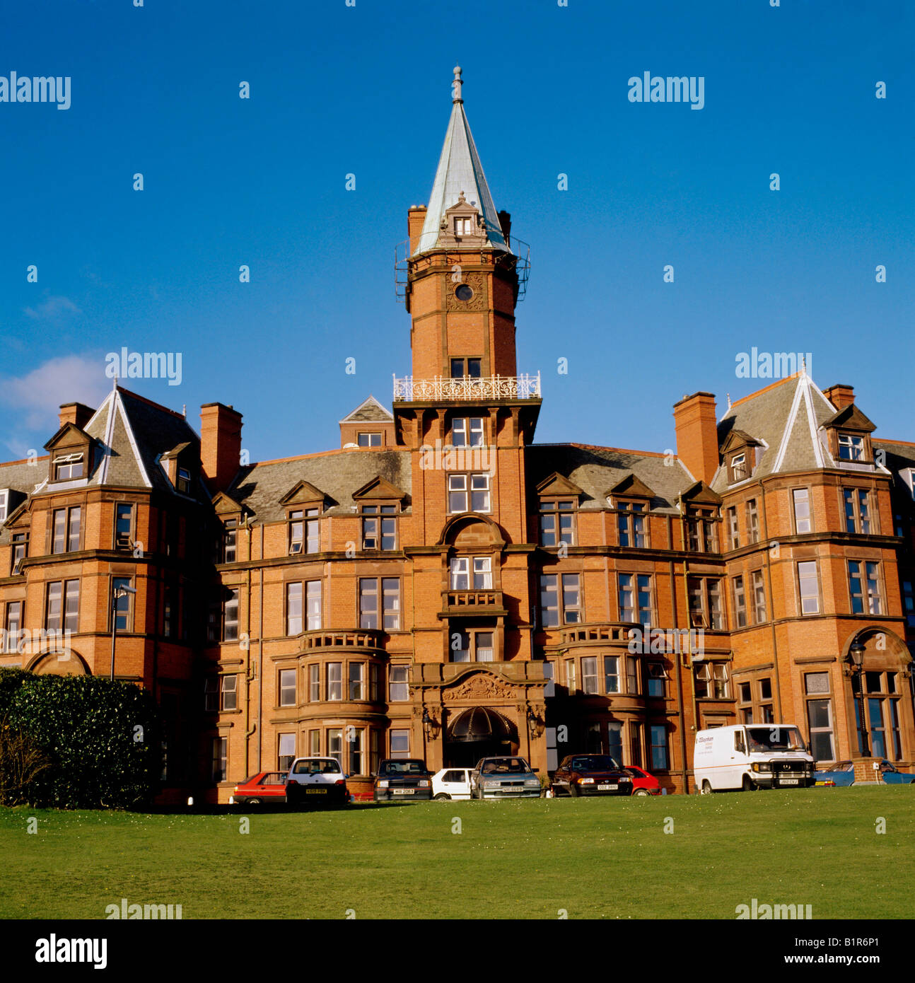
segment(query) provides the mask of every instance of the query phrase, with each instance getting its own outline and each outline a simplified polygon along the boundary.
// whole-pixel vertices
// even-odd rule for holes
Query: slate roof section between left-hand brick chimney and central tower
[[[307,481],[327,496],[326,514],[351,515],[356,507],[353,492],[358,492],[376,476],[409,495],[412,489],[410,452],[389,447],[364,447],[263,461],[242,468],[226,493],[250,508],[257,522],[278,522],[286,517],[280,498],[298,482]]]

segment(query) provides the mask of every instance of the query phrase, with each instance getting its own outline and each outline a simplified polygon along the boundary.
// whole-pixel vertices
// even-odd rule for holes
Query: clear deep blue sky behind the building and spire
[[[456,62],[496,207],[531,244],[539,441],[672,447],[684,393],[720,415],[772,381],[735,376],[753,346],[812,353],[821,387],[853,384],[879,435],[915,440],[911,3],[13,7],[0,76],[70,76],[72,105],[0,102],[6,458],[61,402],[96,405],[123,346],[181,352],[180,385],[125,384],[196,428],[201,403],[234,404],[252,460],[338,446],[366,395],[389,404],[410,372],[394,247]],[[646,71],[703,77],[705,107],[631,102]]]

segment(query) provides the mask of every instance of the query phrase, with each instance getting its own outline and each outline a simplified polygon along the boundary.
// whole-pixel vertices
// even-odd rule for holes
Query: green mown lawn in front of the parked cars
[[[122,897],[180,903],[186,919],[734,918],[754,897],[811,904],[815,919],[910,918],[915,788],[208,816],[3,809],[0,862],[2,918],[102,918]]]

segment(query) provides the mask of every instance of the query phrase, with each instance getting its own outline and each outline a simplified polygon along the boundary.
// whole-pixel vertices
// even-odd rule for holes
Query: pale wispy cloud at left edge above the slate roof
[[[61,403],[94,408],[110,388],[99,356],[67,355],[49,359],[25,376],[0,377],[0,404],[11,418],[4,428],[7,446],[17,458],[24,457],[56,432]]]

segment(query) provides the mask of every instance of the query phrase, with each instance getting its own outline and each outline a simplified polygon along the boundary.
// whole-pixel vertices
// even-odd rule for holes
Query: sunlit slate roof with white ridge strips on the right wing
[[[834,415],[835,407],[822,390],[800,372],[733,403],[718,422],[718,446],[732,431],[761,441],[754,481],[777,472],[834,467],[820,433]],[[721,494],[728,487],[727,469],[718,467],[712,488]]]

